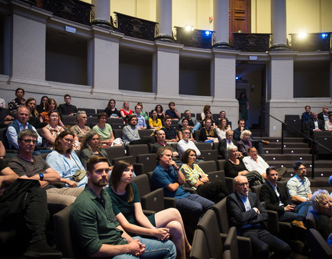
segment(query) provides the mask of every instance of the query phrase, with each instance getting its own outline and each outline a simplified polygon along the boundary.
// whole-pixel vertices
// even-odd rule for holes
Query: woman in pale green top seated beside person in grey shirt
[[[111,125],[107,122],[107,114],[99,113],[98,114],[98,124],[95,125],[92,129],[98,133],[100,138],[100,143],[107,146],[122,146],[122,140],[118,137],[114,139],[113,130]]]

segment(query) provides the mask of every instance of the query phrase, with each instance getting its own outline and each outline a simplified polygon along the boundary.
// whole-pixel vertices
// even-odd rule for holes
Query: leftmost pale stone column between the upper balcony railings
[[[113,29],[113,22],[110,21],[111,0],[92,0],[94,17],[91,21],[96,26]]]

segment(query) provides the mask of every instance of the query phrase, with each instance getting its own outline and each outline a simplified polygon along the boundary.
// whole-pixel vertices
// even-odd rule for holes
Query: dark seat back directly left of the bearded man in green
[[[62,209],[53,215],[55,242],[57,249],[62,252],[64,258],[75,258],[70,226],[71,206]]]

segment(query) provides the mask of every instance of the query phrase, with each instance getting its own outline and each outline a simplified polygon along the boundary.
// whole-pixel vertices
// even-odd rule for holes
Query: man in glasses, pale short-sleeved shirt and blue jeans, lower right
[[[311,206],[310,182],[306,178],[306,166],[303,162],[297,161],[293,164],[295,176],[287,182],[287,193],[293,204],[296,204],[295,212],[302,216],[302,220],[306,218],[306,213]]]

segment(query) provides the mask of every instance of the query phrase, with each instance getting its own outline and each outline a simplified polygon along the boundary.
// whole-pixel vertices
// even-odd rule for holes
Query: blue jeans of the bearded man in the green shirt
[[[165,258],[174,259],[176,258],[176,248],[171,240],[160,241],[156,239],[141,238],[140,236],[134,236],[133,239],[138,238],[142,244],[145,244],[145,252],[139,258],[142,259],[155,259]],[[138,258],[129,253],[124,253],[118,256],[111,257],[112,259],[131,259]],[[111,259],[109,258],[109,259]]]

